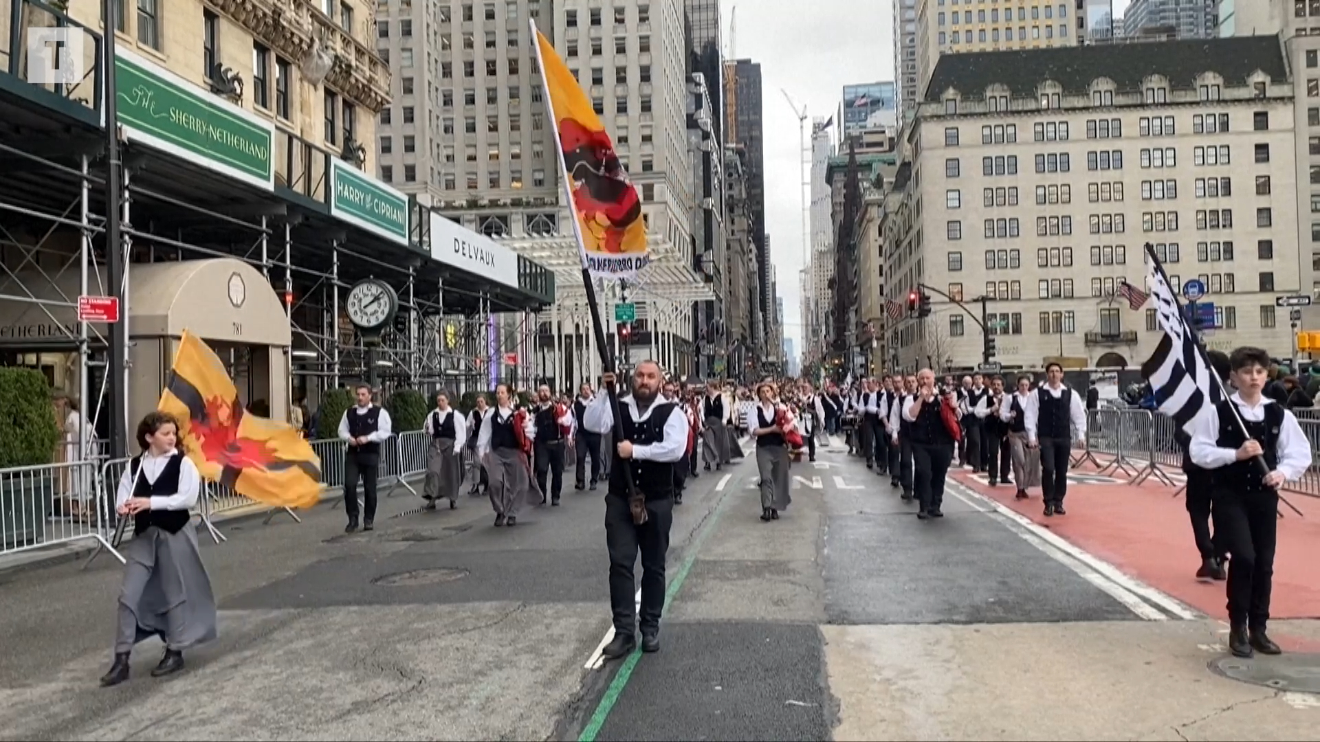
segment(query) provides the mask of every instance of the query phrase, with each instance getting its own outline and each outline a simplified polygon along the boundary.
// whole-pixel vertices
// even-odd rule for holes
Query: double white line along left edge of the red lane
[[[1022,528],[1022,531],[1018,532],[1018,535],[1022,536],[1027,543],[1032,544],[1036,548],[1051,547],[1055,551],[1055,553],[1051,553],[1049,551],[1045,549],[1041,551],[1045,551],[1045,553],[1049,553],[1056,560],[1069,566],[1074,572],[1077,572],[1078,566],[1089,568],[1090,574],[1086,574],[1084,572],[1077,572],[1077,573],[1081,574],[1085,580],[1094,584],[1097,588],[1105,590],[1105,593],[1113,595],[1118,602],[1131,609],[1133,613],[1135,613],[1137,615],[1146,618],[1147,621],[1163,621],[1166,618],[1163,614],[1160,614],[1159,618],[1148,618],[1147,615],[1143,615],[1148,610],[1152,610],[1151,605],[1154,605],[1158,606],[1159,609],[1163,609],[1170,615],[1179,618],[1181,621],[1195,621],[1200,618],[1196,611],[1188,609],[1172,595],[1162,593],[1160,590],[1156,590],[1155,588],[1151,588],[1150,585],[1146,585],[1139,580],[1123,574],[1123,572],[1117,566],[1109,564],[1107,561],[1101,560],[1100,557],[1096,557],[1094,555],[1088,553],[1085,549],[1081,549],[1074,544],[1068,543],[1064,537],[1059,536],[1053,531],[1049,531],[1048,528],[1043,528],[1035,524],[1030,518],[1019,514],[1018,511],[999,503],[993,498],[987,498],[981,492],[970,490],[961,482],[952,482],[950,485],[953,494],[958,499],[966,502],[968,504],[972,504],[973,507],[977,507],[977,503],[979,503],[998,512],[999,515],[1007,518],[1011,523]],[[1027,537],[1028,535],[1031,537]],[[1063,555],[1067,555],[1068,557],[1071,557],[1071,560],[1059,558],[1059,556]],[[1080,564],[1071,564],[1069,561]],[[1109,589],[1102,588],[1092,574],[1094,577],[1104,578],[1104,581],[1109,584]],[[1115,593],[1125,593],[1126,597],[1119,597]],[[1142,609],[1135,607],[1134,601],[1137,603],[1140,603]]]

